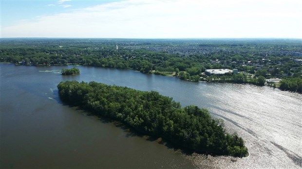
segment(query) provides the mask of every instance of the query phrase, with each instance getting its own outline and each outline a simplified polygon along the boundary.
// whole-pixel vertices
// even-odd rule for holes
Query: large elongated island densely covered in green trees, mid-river
[[[138,132],[163,137],[188,150],[238,157],[248,153],[244,140],[226,133],[206,109],[182,108],[158,92],[76,81],[61,82],[57,88],[61,100],[70,105],[122,121]]]

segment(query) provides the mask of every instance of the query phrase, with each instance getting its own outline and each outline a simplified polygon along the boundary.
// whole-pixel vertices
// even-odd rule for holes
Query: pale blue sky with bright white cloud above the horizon
[[[0,0],[0,37],[302,38],[302,0]]]

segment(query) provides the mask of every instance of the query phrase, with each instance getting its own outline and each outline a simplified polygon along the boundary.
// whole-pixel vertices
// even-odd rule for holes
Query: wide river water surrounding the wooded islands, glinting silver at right
[[[0,168],[301,168],[302,95],[254,85],[210,84],[133,70],[0,64]],[[66,68],[66,67],[64,67]],[[71,68],[71,67],[70,67]],[[245,140],[250,156],[184,154],[116,122],[63,105],[60,81],[96,81],[155,90],[208,108]]]

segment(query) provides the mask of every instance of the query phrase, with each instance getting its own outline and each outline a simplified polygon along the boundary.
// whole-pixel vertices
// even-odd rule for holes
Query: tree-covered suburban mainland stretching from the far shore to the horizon
[[[0,62],[16,65],[134,69],[189,81],[268,84],[302,93],[301,39],[0,40]],[[238,75],[207,77],[204,73],[224,68],[237,69]],[[271,78],[281,81],[267,83]]]

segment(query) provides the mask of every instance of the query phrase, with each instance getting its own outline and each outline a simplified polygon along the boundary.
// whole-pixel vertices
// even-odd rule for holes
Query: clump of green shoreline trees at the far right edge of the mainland
[[[287,77],[280,81],[280,89],[302,93],[302,78]]]

